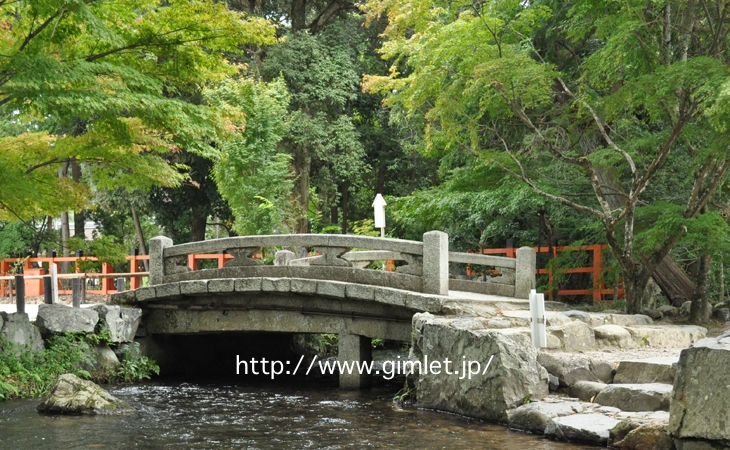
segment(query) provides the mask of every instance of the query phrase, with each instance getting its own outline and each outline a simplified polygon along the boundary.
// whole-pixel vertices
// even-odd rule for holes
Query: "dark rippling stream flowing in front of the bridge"
[[[580,449],[452,414],[401,410],[394,388],[332,383],[162,381],[108,387],[130,416],[41,416],[38,400],[0,402],[10,449]],[[397,388],[396,388],[397,390]]]

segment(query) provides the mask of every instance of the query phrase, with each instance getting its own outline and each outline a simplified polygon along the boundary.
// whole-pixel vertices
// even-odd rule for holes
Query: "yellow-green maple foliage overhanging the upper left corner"
[[[264,19],[212,0],[0,3],[0,217],[80,210],[82,162],[102,188],[178,185],[168,155],[214,156],[228,134],[182,98],[235,71],[224,52],[275,42]],[[189,98],[189,97],[188,97]]]

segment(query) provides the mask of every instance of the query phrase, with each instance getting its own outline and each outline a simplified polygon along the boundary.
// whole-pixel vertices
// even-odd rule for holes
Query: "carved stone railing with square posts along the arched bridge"
[[[274,265],[253,255],[280,249]],[[297,257],[312,251],[317,256]],[[223,268],[192,270],[189,255],[225,252]],[[523,247],[517,258],[449,252],[448,235],[430,231],[423,242],[368,236],[286,234],[241,236],[173,245],[159,236],[150,240],[150,284],[212,278],[309,278],[344,281],[448,295],[449,289],[527,298],[535,287],[535,252]],[[398,261],[395,272],[367,270],[378,260]],[[498,276],[469,279],[449,273],[460,264],[493,267]]]

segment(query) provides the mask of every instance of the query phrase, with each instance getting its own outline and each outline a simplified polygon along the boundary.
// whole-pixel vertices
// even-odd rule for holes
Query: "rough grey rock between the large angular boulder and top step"
[[[611,381],[612,365],[603,360],[574,353],[541,351],[537,361],[548,373],[558,377],[561,386],[572,386],[578,381]]]

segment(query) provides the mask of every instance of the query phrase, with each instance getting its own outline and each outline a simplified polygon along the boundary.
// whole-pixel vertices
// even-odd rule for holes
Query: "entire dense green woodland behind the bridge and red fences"
[[[605,243],[627,310],[653,276],[699,320],[725,291],[729,6],[0,0],[0,257],[377,235],[382,193],[390,236]]]

